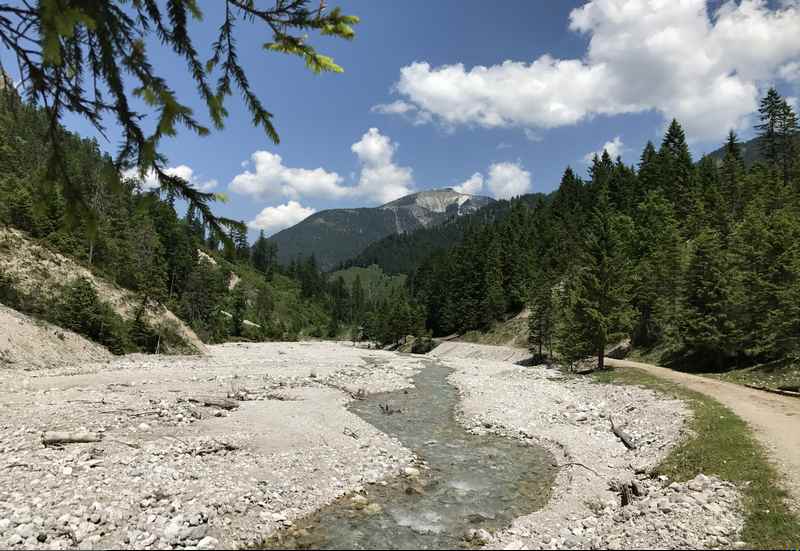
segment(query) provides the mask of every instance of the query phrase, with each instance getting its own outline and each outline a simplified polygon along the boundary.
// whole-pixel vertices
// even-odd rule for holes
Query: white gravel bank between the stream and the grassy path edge
[[[690,412],[680,401],[632,386],[595,384],[547,366],[491,358],[501,347],[434,351],[456,371],[461,422],[544,445],[560,473],[550,502],[484,543],[507,549],[713,548],[744,546],[739,493],[699,475],[687,483],[650,473],[679,441]],[[464,361],[464,358],[469,358]],[[490,358],[490,359],[485,359]],[[636,446],[628,449],[611,421]],[[621,488],[630,503],[622,506]]]

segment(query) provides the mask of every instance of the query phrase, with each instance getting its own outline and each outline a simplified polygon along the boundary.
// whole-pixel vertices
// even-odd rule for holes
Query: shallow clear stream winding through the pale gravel
[[[467,545],[470,529],[493,531],[544,505],[555,478],[541,447],[467,433],[455,419],[450,369],[430,364],[415,388],[373,394],[350,409],[397,437],[430,468],[419,478],[367,486],[368,504],[345,496],[265,542],[270,548],[437,549]],[[400,412],[386,414],[382,405]]]

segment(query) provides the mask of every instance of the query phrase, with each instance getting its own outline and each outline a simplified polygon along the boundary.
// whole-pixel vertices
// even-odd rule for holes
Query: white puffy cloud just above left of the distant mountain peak
[[[301,197],[314,199],[360,198],[385,203],[413,191],[412,171],[394,162],[397,145],[377,128],[370,128],[351,146],[361,164],[358,182],[344,185],[336,172],[323,168],[292,168],[280,155],[256,151],[250,157],[252,170],[237,174],[230,190],[257,199]]]

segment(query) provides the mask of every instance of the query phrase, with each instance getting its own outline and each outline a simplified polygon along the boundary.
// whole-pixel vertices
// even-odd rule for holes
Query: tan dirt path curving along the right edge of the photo
[[[656,365],[606,358],[609,367],[635,367],[718,400],[744,419],[800,500],[800,399],[674,371]]]

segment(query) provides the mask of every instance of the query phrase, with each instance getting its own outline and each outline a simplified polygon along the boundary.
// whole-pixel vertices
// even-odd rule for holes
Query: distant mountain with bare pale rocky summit
[[[331,270],[387,235],[436,226],[493,202],[451,188],[420,191],[375,208],[324,210],[270,240],[282,264],[313,254],[323,270]]]

